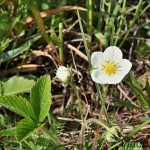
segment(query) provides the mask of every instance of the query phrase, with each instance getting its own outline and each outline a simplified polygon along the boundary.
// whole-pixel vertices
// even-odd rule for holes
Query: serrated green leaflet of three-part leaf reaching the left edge
[[[35,118],[31,104],[21,96],[2,96],[0,98],[0,104],[20,116]]]

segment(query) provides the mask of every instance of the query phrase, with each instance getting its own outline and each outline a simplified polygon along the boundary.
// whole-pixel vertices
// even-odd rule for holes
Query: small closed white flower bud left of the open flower
[[[56,76],[59,80],[66,83],[71,77],[71,71],[69,68],[66,68],[64,66],[60,66],[57,69]]]

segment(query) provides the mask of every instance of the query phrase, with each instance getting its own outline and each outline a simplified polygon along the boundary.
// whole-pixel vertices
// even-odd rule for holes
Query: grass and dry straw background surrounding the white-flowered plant
[[[120,84],[97,85],[106,108],[101,121],[119,126],[118,137],[110,135],[108,140],[106,130],[95,123],[82,133],[78,96],[57,80],[56,70],[60,65],[72,68],[85,120],[98,119],[102,103],[88,58],[110,45],[118,46],[133,66]],[[149,0],[1,0],[0,96],[29,99],[33,85],[45,74],[51,76],[52,93],[46,132],[61,144],[41,130],[23,142],[10,131],[8,136],[3,131],[17,126],[22,117],[0,105],[1,149],[150,148]]]

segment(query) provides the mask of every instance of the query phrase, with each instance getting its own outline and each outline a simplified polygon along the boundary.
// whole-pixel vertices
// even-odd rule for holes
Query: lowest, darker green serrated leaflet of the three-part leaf
[[[44,125],[44,124],[43,124]],[[21,120],[16,128],[17,139],[21,142],[30,137],[34,132],[39,130],[43,125],[38,125],[37,122],[32,119]]]

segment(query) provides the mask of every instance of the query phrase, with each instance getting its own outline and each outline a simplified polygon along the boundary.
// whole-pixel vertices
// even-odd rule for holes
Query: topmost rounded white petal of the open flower
[[[122,59],[122,51],[116,46],[109,46],[104,51],[103,58],[105,60],[115,60],[119,62]]]

